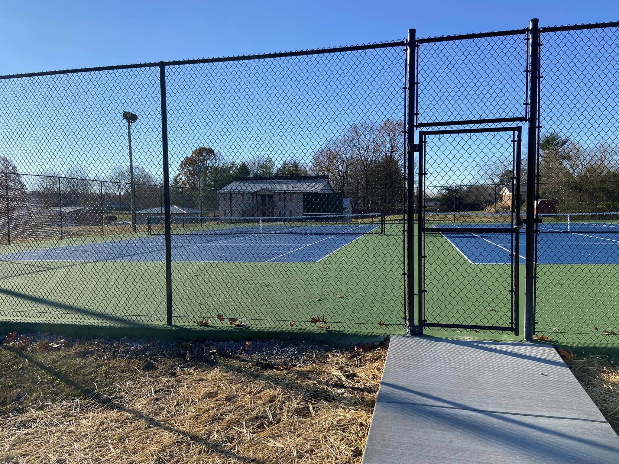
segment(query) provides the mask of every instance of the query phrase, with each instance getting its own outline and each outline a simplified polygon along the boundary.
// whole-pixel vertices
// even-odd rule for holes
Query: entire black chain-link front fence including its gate
[[[0,317],[613,343],[618,45],[533,21],[1,76]]]

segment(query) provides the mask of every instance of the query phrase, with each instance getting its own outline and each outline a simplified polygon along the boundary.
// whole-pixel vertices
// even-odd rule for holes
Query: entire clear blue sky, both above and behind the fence
[[[417,28],[418,37],[487,32],[524,28],[532,17],[539,17],[542,26],[618,20],[619,2],[124,0],[20,4],[0,0],[0,74],[355,45],[402,39],[410,27]],[[616,49],[613,44],[619,44],[616,35],[596,37],[598,41],[590,38],[579,45],[571,44],[571,49],[584,53],[581,48],[589,47],[589,54],[583,56],[595,61],[597,55],[591,49],[612,50]],[[511,40],[521,44],[519,55],[511,48],[503,53],[505,40],[498,41],[503,48],[497,46],[488,53],[482,48],[477,55],[472,51],[445,54],[462,58],[457,64],[460,71],[454,74],[451,85],[443,83],[438,93],[426,90],[424,95],[430,100],[449,101],[454,85],[469,85],[474,80],[461,79],[462,75],[475,75],[469,69],[485,69],[483,82],[504,80],[511,73],[520,84],[493,89],[517,88],[519,94],[494,95],[493,111],[497,114],[491,116],[517,116],[512,114],[513,108],[504,105],[522,111],[526,57],[524,42],[517,37]],[[548,42],[550,52],[552,40],[548,38]],[[227,160],[272,156],[277,165],[291,159],[309,163],[317,150],[344,134],[351,124],[402,119],[403,53],[399,47],[354,57],[321,55],[277,63],[239,61],[168,68],[172,174],[200,145],[214,147]],[[564,50],[555,49],[553,53],[563,56]],[[578,53],[572,53],[565,69],[549,73],[556,76],[556,88],[565,88],[568,82],[573,85],[571,93],[561,93],[563,100],[555,101],[553,93],[547,93],[542,122],[550,127],[548,130],[560,130],[557,124],[563,119],[556,111],[575,114],[569,124],[588,127],[578,136],[597,143],[612,135],[600,133],[600,127],[613,132],[619,125],[614,119],[616,124],[607,121],[600,125],[594,117],[606,114],[599,105],[613,101],[615,87],[604,87],[608,93],[605,98],[597,90],[588,105],[573,106],[578,101],[570,100],[569,95],[592,95],[581,87],[594,81],[590,78],[589,84],[574,84],[570,76],[597,69],[597,62],[583,62]],[[433,57],[434,66],[451,66],[437,62],[440,56]],[[548,69],[551,62],[557,61],[545,64],[546,71],[552,71]],[[609,64],[595,75],[606,82],[613,66]],[[348,85],[353,77],[357,80]],[[89,176],[106,178],[116,166],[128,163],[126,126],[120,115],[131,110],[139,114],[132,132],[134,161],[161,178],[157,68],[14,79],[1,84],[0,109],[4,103],[9,110],[0,111],[0,127],[9,130],[0,131],[0,156],[14,161],[22,173],[66,173],[72,166],[81,166]],[[467,92],[479,105],[485,100],[477,98],[480,91],[475,88]],[[449,119],[449,114],[429,114],[431,105],[425,101],[422,106],[431,121]],[[452,106],[434,108],[449,110]],[[477,106],[466,108],[475,113]],[[582,108],[588,108],[588,112]],[[564,124],[569,126],[568,122]]]

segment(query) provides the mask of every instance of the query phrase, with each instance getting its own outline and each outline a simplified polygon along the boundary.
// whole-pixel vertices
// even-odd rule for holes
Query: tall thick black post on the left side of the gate
[[[410,334],[420,335],[423,333],[423,327],[415,324],[415,223],[413,212],[415,209],[415,182],[414,169],[415,165],[415,60],[417,56],[417,31],[409,29],[409,37],[407,41],[406,59],[406,156],[407,162],[406,171],[406,187],[407,187],[407,212],[406,217],[406,290],[407,299],[407,330]],[[420,322],[420,321],[418,321]]]

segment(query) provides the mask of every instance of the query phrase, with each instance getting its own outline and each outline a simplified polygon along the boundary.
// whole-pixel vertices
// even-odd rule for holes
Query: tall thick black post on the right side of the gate
[[[530,20],[529,41],[529,133],[527,134],[527,230],[524,338],[533,340],[535,324],[535,181],[537,174],[537,135],[539,131],[539,20]]]

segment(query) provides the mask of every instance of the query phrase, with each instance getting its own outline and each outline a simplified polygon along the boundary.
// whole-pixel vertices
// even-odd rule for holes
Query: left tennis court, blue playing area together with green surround
[[[209,327],[229,329],[227,319],[215,317],[224,314],[252,328],[325,330],[309,322],[320,316],[331,330],[402,330],[401,223],[385,225],[381,215],[340,216],[337,223],[287,218],[285,225],[269,219],[260,233],[259,218],[252,222],[174,221],[175,325],[196,327],[204,318]],[[150,235],[0,246],[6,317],[165,324],[165,236],[153,226]]]

